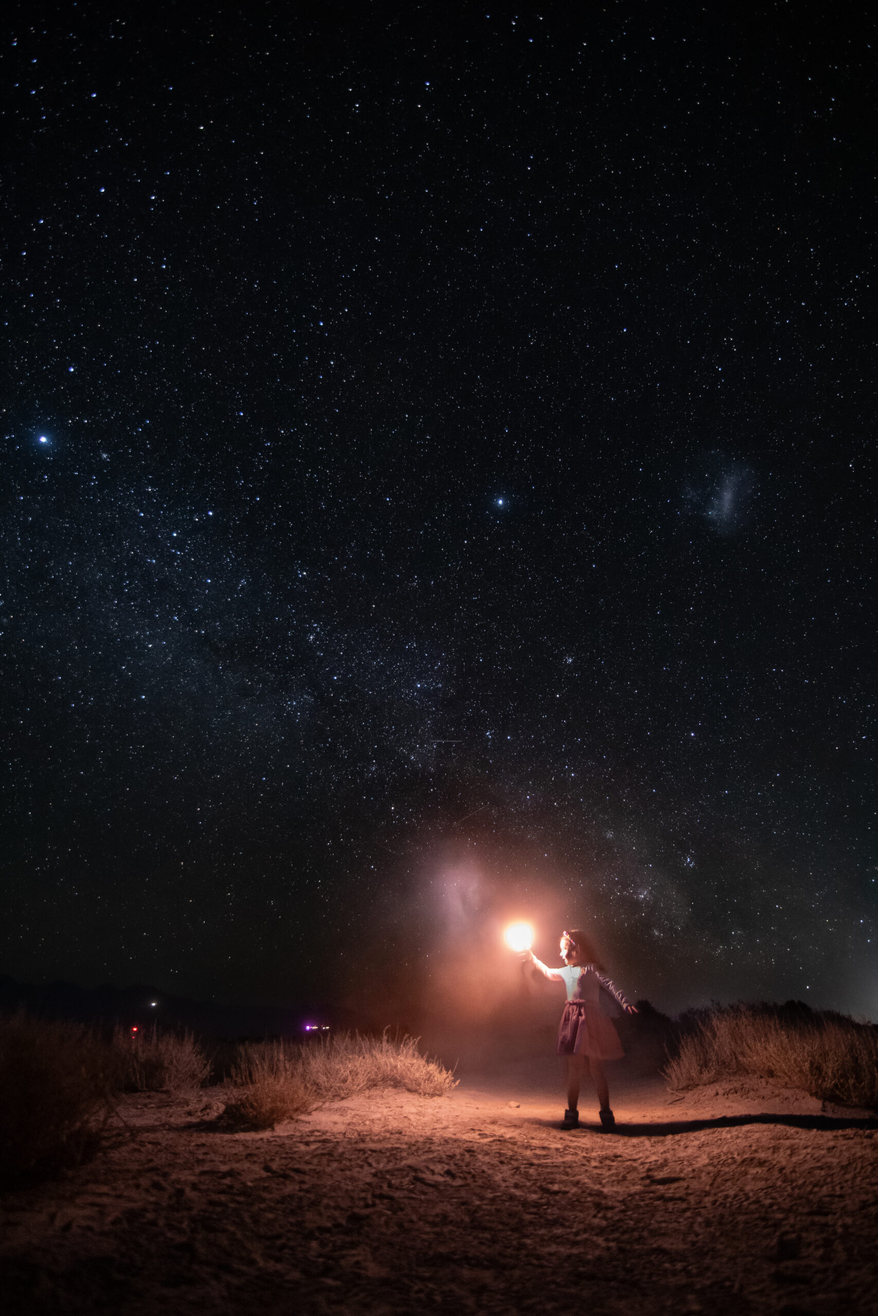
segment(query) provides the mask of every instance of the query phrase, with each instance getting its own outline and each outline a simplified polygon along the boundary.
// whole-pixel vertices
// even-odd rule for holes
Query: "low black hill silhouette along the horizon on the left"
[[[155,1001],[155,1004],[153,1004]],[[0,1012],[26,1009],[42,1019],[83,1024],[117,1023],[125,1028],[153,1021],[163,1028],[190,1028],[201,1037],[300,1037],[305,1024],[375,1032],[373,1020],[340,1005],[229,1005],[171,996],[157,987],[78,987],[76,983],[18,983],[0,974]]]

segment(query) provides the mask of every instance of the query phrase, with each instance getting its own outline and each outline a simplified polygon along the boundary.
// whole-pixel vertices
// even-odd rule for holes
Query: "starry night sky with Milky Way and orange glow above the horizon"
[[[13,8],[3,971],[875,1016],[864,13]]]

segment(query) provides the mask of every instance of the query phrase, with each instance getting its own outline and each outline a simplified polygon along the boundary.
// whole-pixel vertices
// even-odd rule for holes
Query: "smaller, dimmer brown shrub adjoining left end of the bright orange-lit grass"
[[[246,1042],[232,1066],[236,1095],[222,1112],[225,1121],[272,1129],[311,1109],[313,1100],[301,1076],[299,1050],[283,1042]]]

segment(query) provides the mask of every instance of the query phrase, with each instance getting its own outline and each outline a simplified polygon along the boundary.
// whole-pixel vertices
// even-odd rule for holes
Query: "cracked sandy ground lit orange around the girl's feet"
[[[267,1134],[133,1096],[0,1199],[0,1305],[43,1312],[878,1312],[878,1121],[756,1082],[615,1075],[565,1132],[553,1062],[373,1092]]]

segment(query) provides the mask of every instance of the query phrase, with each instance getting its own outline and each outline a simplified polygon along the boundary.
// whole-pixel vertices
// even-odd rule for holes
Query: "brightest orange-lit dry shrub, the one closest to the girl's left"
[[[457,1086],[438,1061],[421,1055],[417,1038],[392,1041],[342,1033],[301,1050],[303,1076],[323,1100],[342,1100],[370,1087],[401,1087],[419,1096],[444,1096]]]

